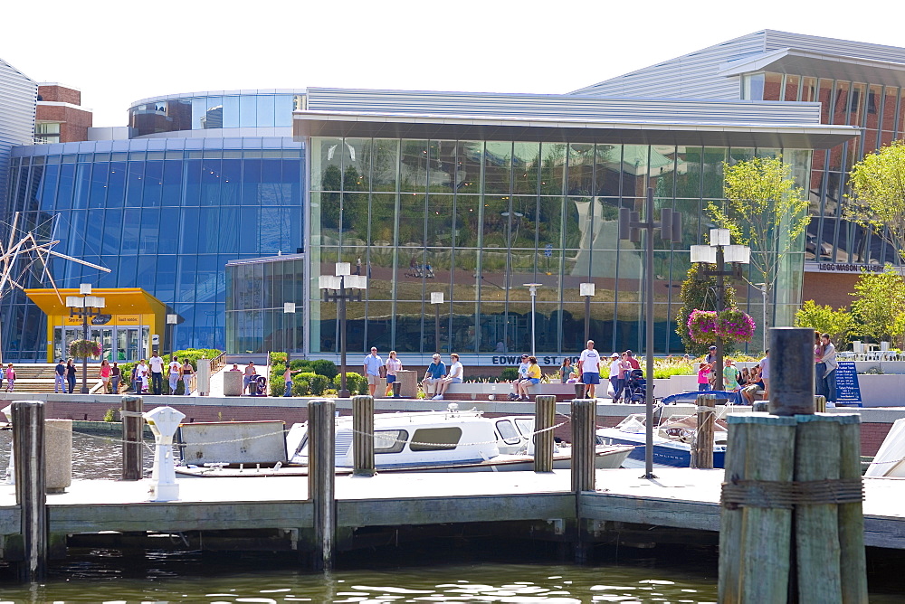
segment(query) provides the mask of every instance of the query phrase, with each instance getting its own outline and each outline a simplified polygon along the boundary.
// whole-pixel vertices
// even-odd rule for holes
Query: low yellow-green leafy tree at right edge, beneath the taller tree
[[[852,312],[861,334],[876,342],[901,335],[905,319],[905,278],[887,264],[881,273],[862,273],[854,284]]]

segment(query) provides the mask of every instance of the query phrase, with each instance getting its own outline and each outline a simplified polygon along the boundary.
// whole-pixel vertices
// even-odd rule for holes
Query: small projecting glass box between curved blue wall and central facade
[[[304,259],[289,254],[226,264],[227,351],[304,352]]]

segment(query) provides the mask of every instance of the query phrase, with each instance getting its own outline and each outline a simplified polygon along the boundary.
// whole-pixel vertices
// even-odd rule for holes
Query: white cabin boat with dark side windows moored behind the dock
[[[375,466],[378,472],[532,470],[533,434],[533,416],[485,418],[481,411],[455,410],[378,413],[374,416]],[[352,437],[352,418],[337,418],[334,456],[339,474],[351,473],[354,467]],[[620,467],[632,450],[631,446],[599,445],[595,467]],[[292,426],[286,436],[286,451],[286,462],[273,467],[222,459],[204,466],[176,467],[176,472],[195,477],[305,476],[307,423]],[[553,467],[568,468],[571,459],[571,448],[557,444]]]

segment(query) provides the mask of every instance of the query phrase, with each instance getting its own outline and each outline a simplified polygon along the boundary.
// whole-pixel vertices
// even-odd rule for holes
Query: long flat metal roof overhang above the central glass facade
[[[853,126],[469,118],[297,111],[293,136],[505,140],[544,143],[757,146],[829,149],[861,134]]]

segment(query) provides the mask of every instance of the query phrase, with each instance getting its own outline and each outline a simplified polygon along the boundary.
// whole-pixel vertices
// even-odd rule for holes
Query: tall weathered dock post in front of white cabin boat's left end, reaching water
[[[314,566],[319,571],[333,568],[333,539],[336,534],[335,412],[334,401],[308,403],[308,493],[314,506],[314,533],[319,548]]]

